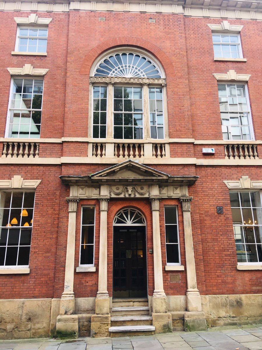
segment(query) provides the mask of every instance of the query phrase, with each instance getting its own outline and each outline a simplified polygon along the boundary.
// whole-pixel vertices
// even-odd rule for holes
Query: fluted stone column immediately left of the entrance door
[[[100,199],[98,292],[95,300],[95,313],[97,315],[109,314],[109,296],[107,291],[107,204],[108,199]]]

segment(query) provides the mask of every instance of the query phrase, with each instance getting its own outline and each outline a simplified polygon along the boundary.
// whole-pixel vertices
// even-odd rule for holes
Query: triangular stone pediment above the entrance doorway
[[[146,165],[139,164],[132,160],[128,160],[113,167],[101,170],[98,173],[92,174],[92,182],[110,182],[110,181],[154,181],[168,180],[169,175],[162,173],[156,169]]]

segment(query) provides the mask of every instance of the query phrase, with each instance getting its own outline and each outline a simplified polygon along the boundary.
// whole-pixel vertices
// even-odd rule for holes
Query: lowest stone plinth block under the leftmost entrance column
[[[77,315],[57,316],[56,336],[60,339],[78,338],[78,316]]]

